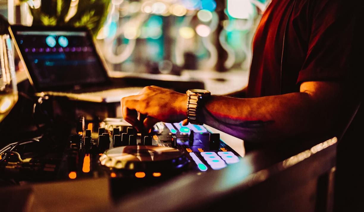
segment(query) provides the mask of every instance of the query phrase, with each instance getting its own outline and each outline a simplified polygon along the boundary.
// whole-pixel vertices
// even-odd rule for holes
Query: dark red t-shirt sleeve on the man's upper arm
[[[359,3],[358,3],[359,2]],[[358,36],[361,1],[312,1],[308,51],[298,74],[303,81],[341,81],[355,75],[363,35]],[[358,3],[357,5],[354,5]],[[359,8],[358,8],[359,7]],[[359,59],[360,60],[360,59]],[[361,60],[364,60],[362,57]]]

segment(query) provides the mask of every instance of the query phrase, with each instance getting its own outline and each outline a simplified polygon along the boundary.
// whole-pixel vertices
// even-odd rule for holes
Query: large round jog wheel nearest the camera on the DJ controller
[[[181,172],[189,164],[178,149],[158,146],[123,146],[106,150],[100,164],[114,177],[160,177]]]

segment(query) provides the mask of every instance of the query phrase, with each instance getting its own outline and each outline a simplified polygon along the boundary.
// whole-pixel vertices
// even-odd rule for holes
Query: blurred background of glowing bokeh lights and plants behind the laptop
[[[231,80],[236,90],[248,82],[252,39],[269,2],[1,0],[0,13],[10,24],[90,28],[111,76],[204,78],[207,89]]]

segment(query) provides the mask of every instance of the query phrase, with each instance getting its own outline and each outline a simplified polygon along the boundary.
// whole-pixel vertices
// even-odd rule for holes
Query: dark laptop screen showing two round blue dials
[[[20,27],[13,35],[38,90],[105,83],[107,73],[87,30]]]

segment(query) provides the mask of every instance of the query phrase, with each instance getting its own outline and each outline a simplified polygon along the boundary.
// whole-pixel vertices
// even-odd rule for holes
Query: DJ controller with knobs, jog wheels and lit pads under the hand
[[[157,123],[138,133],[122,119],[87,123],[83,117],[70,136],[60,178],[109,175],[112,178],[170,177],[187,171],[209,172],[237,163],[240,156],[202,125]]]

